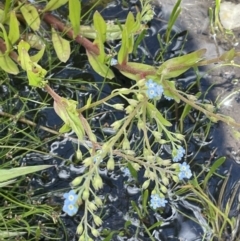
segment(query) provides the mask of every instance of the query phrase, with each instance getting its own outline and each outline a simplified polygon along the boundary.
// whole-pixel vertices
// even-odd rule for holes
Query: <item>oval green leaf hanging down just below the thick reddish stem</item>
[[[52,28],[52,42],[59,60],[67,62],[71,53],[70,42],[62,38],[54,28]]]

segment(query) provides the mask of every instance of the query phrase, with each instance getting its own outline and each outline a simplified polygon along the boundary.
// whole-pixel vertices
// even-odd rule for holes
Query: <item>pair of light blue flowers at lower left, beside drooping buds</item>
[[[78,195],[75,193],[74,190],[71,190],[68,193],[64,193],[63,197],[65,198],[63,211],[69,216],[75,215],[78,211]]]

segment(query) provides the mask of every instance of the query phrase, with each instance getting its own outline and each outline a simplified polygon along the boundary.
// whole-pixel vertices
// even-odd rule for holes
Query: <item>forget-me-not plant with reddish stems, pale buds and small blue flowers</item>
[[[53,11],[67,3],[68,24],[53,14]],[[180,13],[180,3],[179,0],[168,23],[165,35],[167,44],[171,42],[171,30]],[[150,208],[156,212],[159,209],[161,212],[161,209],[171,203],[170,200],[167,201],[167,198],[170,198],[170,189],[173,185],[182,185],[192,176],[195,180],[190,165],[186,163],[188,147],[183,128],[178,126],[172,128],[171,120],[159,107],[163,101],[168,100],[173,105],[184,106],[180,122],[183,122],[191,109],[195,109],[202,112],[212,122],[224,121],[233,126],[240,126],[233,119],[217,114],[213,105],[199,102],[198,96],[179,90],[175,80],[190,68],[216,61],[231,61],[239,53],[231,50],[217,59],[203,60],[205,50],[202,49],[168,59],[156,67],[131,62],[129,55],[134,52],[135,44],[138,42],[135,39],[139,36],[144,38],[146,23],[154,16],[150,0],[141,0],[140,5],[141,9],[136,15],[129,12],[124,24],[117,21],[107,22],[98,11],[95,11],[93,26],[81,24],[84,13],[81,11],[81,2],[78,0],[50,0],[46,5],[20,1],[14,4],[6,1],[1,11],[0,66],[2,71],[6,75],[25,74],[24,83],[27,82],[29,88],[36,93],[43,90],[48,93],[42,103],[35,102],[41,109],[44,102],[50,102],[51,97],[54,111],[61,118],[63,125],[58,131],[43,126],[39,128],[56,135],[53,139],[72,131],[74,134],[69,138],[78,144],[76,155],[78,161],[84,166],[84,172],[72,180],[70,184],[72,190],[63,194],[65,200],[61,209],[69,216],[77,214],[80,208],[84,210],[76,230],[79,240],[93,240],[94,237],[101,235],[99,227],[103,224],[104,217],[99,210],[103,207],[104,199],[99,195],[99,190],[103,188],[104,182],[99,168],[102,164],[106,165],[108,171],[115,170],[117,165],[122,166],[123,176],[129,179],[137,179],[138,173],[143,172],[144,181],[140,184],[143,192],[143,210],[133,204],[142,219],[147,216]],[[32,48],[36,48],[34,45],[36,43],[33,44],[27,37],[21,37],[24,34],[20,28],[21,21],[27,23],[29,30],[33,33],[32,38],[39,41],[45,40],[45,37],[41,36],[41,23],[48,24],[51,31],[44,31],[51,36],[48,38],[49,43],[41,44],[38,51],[31,51]],[[112,48],[106,51],[105,44],[113,40],[121,41],[120,49]],[[77,99],[57,93],[51,86],[52,79],[48,72],[51,70],[44,67],[43,59],[48,51],[50,53],[48,53],[48,58],[51,58],[51,51],[54,49],[56,59],[66,63],[73,51],[71,41],[84,47],[91,67],[105,81],[108,79],[114,82],[114,68],[129,79],[130,87],[115,88],[110,95],[96,101],[93,101],[90,95],[81,107]],[[52,66],[54,61],[50,62]],[[122,98],[125,103],[113,104],[111,100],[115,97]],[[30,97],[27,101],[29,99]],[[23,102],[26,106],[26,101],[23,100]],[[109,123],[113,134],[103,141],[98,139],[90,121],[94,116],[94,109],[101,105],[124,113],[122,118]],[[86,110],[92,111],[93,114],[86,114]],[[15,118],[16,122],[37,127],[35,122],[24,118],[23,113],[18,113],[19,116],[17,116],[14,112],[7,113],[4,110],[0,114],[3,117]],[[209,123],[210,126],[211,122]],[[142,136],[142,143],[137,148],[129,140],[129,132],[133,124]],[[20,129],[18,131],[20,132]],[[27,131],[25,132],[27,135]],[[35,141],[34,137],[29,138]],[[83,153],[79,146],[84,147],[86,153]],[[168,150],[168,156],[161,155],[163,146]],[[9,147],[3,146],[2,148]],[[34,150],[34,147],[32,146],[30,150]],[[17,152],[14,154],[18,155]],[[117,162],[119,159],[120,164]],[[182,159],[184,162],[180,163]],[[196,190],[197,184],[195,187]],[[181,188],[184,192],[184,187]],[[192,190],[194,192],[194,188]],[[198,191],[200,193],[201,188]],[[149,193],[151,193],[150,197]],[[151,237],[149,230],[151,229],[147,229],[147,233]]]

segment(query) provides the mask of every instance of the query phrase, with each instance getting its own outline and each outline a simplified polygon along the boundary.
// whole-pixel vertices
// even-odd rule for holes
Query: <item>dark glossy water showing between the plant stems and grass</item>
[[[124,7],[121,7],[118,1],[112,1],[105,6],[103,10],[99,7],[99,10],[106,19],[111,20],[117,17],[120,20],[124,20],[129,10],[133,12],[136,11],[136,6],[139,7],[137,1],[130,1],[126,3]],[[174,27],[172,36],[175,37],[172,40],[172,44],[166,48],[161,59],[158,59],[159,41],[157,39],[157,34],[160,33],[162,36],[166,30],[166,23],[162,19],[165,9],[164,6],[155,7],[154,11],[155,18],[151,23],[148,23],[149,29],[147,30],[144,42],[138,47],[137,54],[130,56],[132,61],[143,61],[150,65],[159,65],[162,61],[188,52],[189,45],[191,45],[191,49],[194,49],[193,35],[186,31],[184,25],[179,25]],[[111,44],[115,46],[116,49],[119,49],[121,43],[115,41]],[[161,44],[164,45],[164,41]],[[45,67],[44,64],[46,65],[46,62],[41,64]],[[51,71],[51,79],[49,82],[51,87],[59,93],[59,95],[66,98],[77,99],[79,107],[81,107],[86,103],[90,94],[92,95],[93,101],[96,101],[109,95],[114,88],[118,88],[119,86],[129,87],[133,84],[129,79],[123,77],[116,69],[113,69],[113,71],[116,75],[113,80],[114,84],[104,82],[103,78],[92,70],[84,54],[84,50],[79,48],[72,54],[66,66],[59,66]],[[204,71],[204,69],[202,69],[202,71]],[[209,85],[208,80],[202,78],[199,86],[195,84],[196,79],[196,73],[190,69],[179,76],[177,87],[191,94],[195,94],[199,88],[205,91]],[[32,147],[35,146],[34,149],[36,152],[30,151],[28,153],[21,153],[20,151],[15,151],[13,155],[16,157],[16,160],[24,165],[55,165],[50,169],[42,171],[40,175],[33,175],[28,183],[28,187],[34,190],[32,200],[50,203],[56,207],[56,211],[60,211],[63,205],[62,195],[69,190],[69,183],[85,171],[84,166],[78,163],[75,156],[78,142],[73,133],[65,135],[64,138],[54,137],[52,134],[39,128],[40,125],[43,125],[58,130],[62,122],[51,107],[52,100],[47,98],[44,91],[32,90],[26,86],[24,87],[23,83],[20,81],[22,81],[20,77],[11,77],[6,80],[6,83],[9,82],[13,89],[17,89],[19,96],[32,98],[38,102],[46,101],[50,105],[43,108],[41,111],[36,111],[35,109],[40,106],[36,102],[28,102],[26,107],[24,106],[24,102],[21,101],[21,98],[11,98],[10,101],[10,97],[15,94],[13,89],[10,89],[7,84],[1,86],[0,98],[1,102],[4,102],[2,109],[5,112],[9,111],[13,114],[19,109],[28,109],[25,117],[37,123],[37,128],[32,130],[27,127],[26,124],[20,122],[17,122],[16,125],[19,129],[27,128],[27,131],[33,131],[34,135],[38,136],[41,140],[41,143],[32,144]],[[99,91],[99,89],[101,91]],[[207,100],[211,101],[211,97],[211,95],[207,95]],[[125,103],[120,97],[114,98],[111,101],[112,103]],[[161,111],[170,109],[168,112],[169,118],[172,119],[173,127],[175,127],[178,124],[178,117],[183,107],[179,106],[179,113],[177,113],[172,102],[161,101],[159,103],[159,108]],[[109,106],[101,105],[94,110],[85,112],[84,115],[90,117],[92,129],[97,134],[98,140],[103,142],[105,138],[109,138],[114,134],[110,125],[116,119],[122,118],[124,113],[113,110]],[[221,141],[224,138],[224,133],[221,124],[214,124],[211,126],[209,134],[206,136],[205,130],[209,123],[208,119],[194,110],[191,111],[191,116],[196,121],[193,122],[191,118],[187,117],[184,122],[183,132],[186,135],[188,143],[186,160],[190,162],[192,170],[199,173],[202,171],[203,165],[206,166],[210,163],[210,167],[215,160],[225,154]],[[8,130],[4,128],[4,124],[2,124],[2,126],[1,136],[6,136]],[[141,153],[142,133],[139,132],[134,125],[132,129],[128,131],[131,145],[138,147],[137,151]],[[28,138],[21,139],[22,136],[23,135],[19,133],[16,135],[16,138],[21,140],[20,143],[22,146],[28,145],[30,140]],[[151,137],[149,138],[151,139]],[[162,157],[170,157],[168,146],[156,146],[155,148]],[[39,151],[43,151],[45,154]],[[81,151],[85,157],[88,156],[84,146],[81,146]],[[99,172],[104,181],[104,187],[98,192],[98,195],[105,201],[104,207],[101,210],[101,213],[104,213],[102,231],[104,230],[103,233],[105,235],[95,238],[95,240],[104,240],[110,231],[116,231],[109,240],[148,241],[151,239],[146,233],[144,226],[151,227],[157,221],[162,221],[162,224],[151,230],[150,233],[154,240],[210,240],[212,231],[203,215],[203,207],[197,205],[196,202],[187,200],[186,195],[176,196],[173,194],[174,186],[169,187],[171,191],[168,192],[168,204],[162,213],[153,212],[149,209],[148,215],[145,215],[142,219],[139,218],[133,208],[132,202],[138,207],[142,205],[141,184],[144,181],[143,171],[140,170],[136,179],[124,173],[121,167],[122,160],[116,159],[115,162],[115,170],[111,172],[106,169],[106,160],[103,160],[99,167]],[[229,173],[230,168],[231,172]],[[230,211],[230,216],[232,217],[239,216],[238,172],[238,165],[233,161],[233,158],[229,156],[224,165],[218,170],[218,173],[222,175],[229,173],[229,180],[224,190],[223,199],[221,200],[221,205],[223,207],[226,206],[229,197],[233,195],[234,187],[237,189],[237,194],[233,200]],[[207,171],[203,173],[199,179],[203,179],[206,174]],[[214,176],[214,178],[210,179],[208,188],[213,199],[218,200],[222,185],[223,181],[220,177]],[[150,185],[150,191],[151,188],[152,186]],[[60,219],[65,226],[65,230],[60,227],[59,229],[51,231],[49,229],[47,233],[50,237],[58,237],[60,240],[78,240],[75,231],[83,212],[84,210],[80,207],[77,215],[74,217],[69,217],[61,213]],[[195,221],[193,221],[193,219]],[[44,222],[44,219],[42,221]],[[127,221],[130,221],[130,225],[126,225]],[[93,220],[90,219],[89,222],[92,223]],[[55,227],[54,224],[50,226]],[[48,239],[42,238],[41,240]],[[230,229],[226,230],[223,240],[232,240]]]

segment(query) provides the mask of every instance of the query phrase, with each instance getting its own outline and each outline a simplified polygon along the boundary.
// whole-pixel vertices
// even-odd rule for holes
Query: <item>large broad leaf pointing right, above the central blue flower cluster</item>
[[[196,66],[205,52],[206,49],[200,49],[184,56],[169,59],[158,68],[157,74],[165,79],[175,78],[191,67]]]

